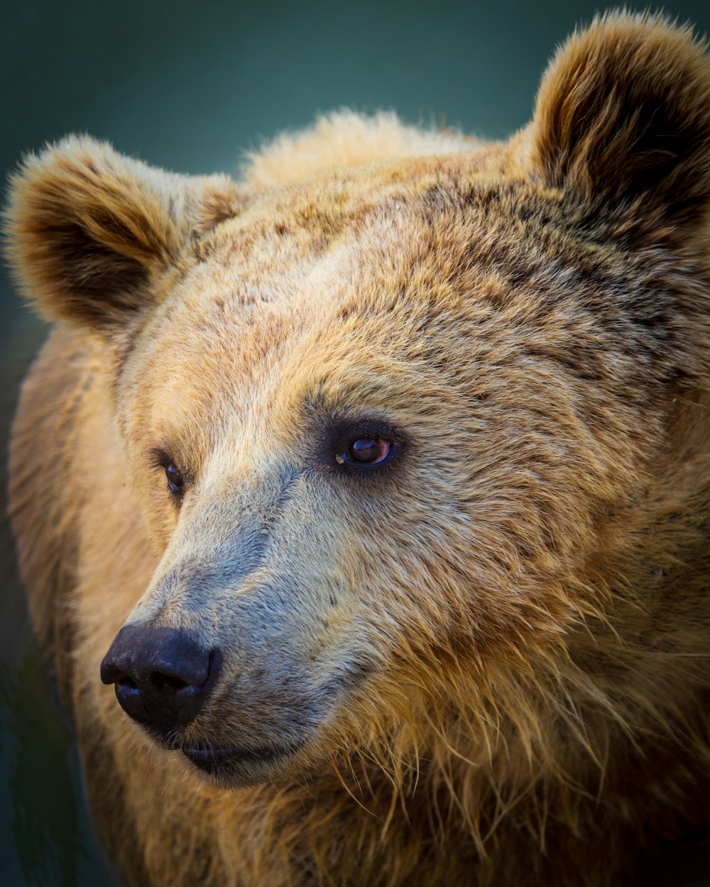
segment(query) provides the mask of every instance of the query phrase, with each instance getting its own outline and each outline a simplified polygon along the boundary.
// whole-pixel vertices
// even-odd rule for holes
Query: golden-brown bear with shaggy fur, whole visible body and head
[[[599,887],[710,825],[709,207],[705,45],[623,14],[506,143],[25,161],[12,520],[128,883]]]

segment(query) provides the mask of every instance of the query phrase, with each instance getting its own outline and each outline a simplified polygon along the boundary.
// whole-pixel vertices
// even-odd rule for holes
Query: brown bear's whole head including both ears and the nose
[[[619,737],[696,742],[708,99],[686,31],[611,17],[505,145],[348,117],[367,163],[325,127],[239,184],[28,161],[20,282],[91,342],[157,564],[102,676],[189,778],[361,753],[401,788],[421,749],[482,847],[501,797],[623,786]]]

